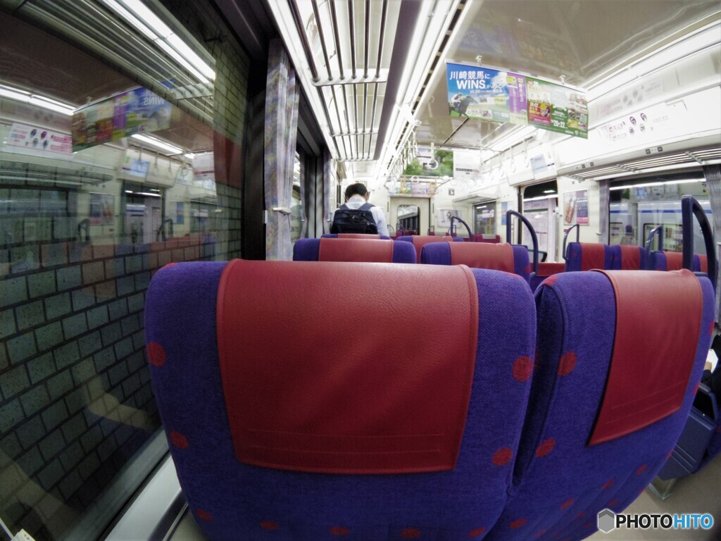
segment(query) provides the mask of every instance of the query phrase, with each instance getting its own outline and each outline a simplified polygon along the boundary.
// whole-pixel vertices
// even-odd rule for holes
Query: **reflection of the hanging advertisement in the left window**
[[[73,113],[73,151],[115,141],[133,133],[170,127],[171,105],[148,89],[136,88]]]

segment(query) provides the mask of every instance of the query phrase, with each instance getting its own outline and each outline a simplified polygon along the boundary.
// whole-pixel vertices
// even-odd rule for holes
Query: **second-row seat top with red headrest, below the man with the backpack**
[[[413,247],[391,239],[353,237],[298,239],[293,261],[355,261],[369,263],[416,263]]]

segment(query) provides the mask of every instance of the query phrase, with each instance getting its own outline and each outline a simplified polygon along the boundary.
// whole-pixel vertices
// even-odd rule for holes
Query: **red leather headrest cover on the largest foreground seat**
[[[414,333],[394,331],[400,318]],[[448,320],[462,324],[438,327]],[[231,261],[217,333],[236,456],[309,472],[451,470],[477,326],[463,266]]]

